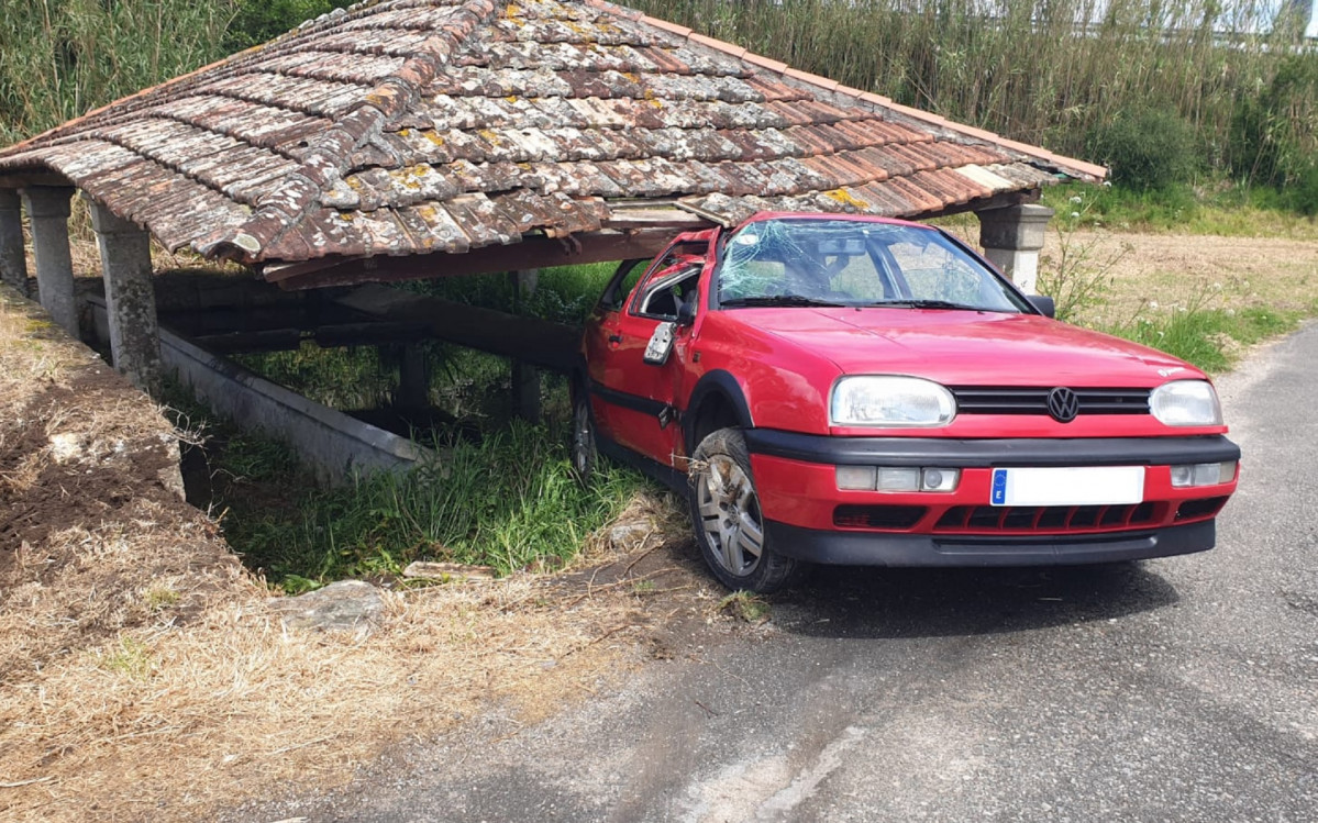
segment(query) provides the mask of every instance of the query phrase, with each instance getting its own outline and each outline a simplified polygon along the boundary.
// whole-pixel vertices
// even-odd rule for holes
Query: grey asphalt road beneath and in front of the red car
[[[759,637],[245,816],[1318,820],[1315,365],[1310,325],[1220,381],[1244,474],[1213,552],[829,570]]]

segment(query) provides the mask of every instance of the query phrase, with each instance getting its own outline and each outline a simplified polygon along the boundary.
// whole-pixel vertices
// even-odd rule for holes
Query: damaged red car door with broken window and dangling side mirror
[[[598,433],[666,466],[673,465],[680,448],[673,400],[692,334],[689,324],[679,323],[679,312],[683,304],[695,309],[712,237],[713,232],[679,237],[626,300],[616,305],[601,300],[588,325],[587,365]]]

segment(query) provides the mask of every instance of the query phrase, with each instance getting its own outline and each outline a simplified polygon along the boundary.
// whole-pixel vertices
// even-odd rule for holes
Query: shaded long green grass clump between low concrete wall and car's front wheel
[[[580,485],[567,435],[519,421],[480,444],[457,441],[435,464],[343,489],[307,489],[291,506],[239,500],[224,519],[229,544],[285,589],[393,575],[414,560],[488,565],[506,574],[558,568],[642,489],[605,467]]]

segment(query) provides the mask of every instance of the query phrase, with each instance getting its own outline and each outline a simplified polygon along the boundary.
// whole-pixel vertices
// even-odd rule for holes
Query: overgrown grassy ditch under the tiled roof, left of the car
[[[427,346],[431,406],[391,403],[397,381],[374,349],[243,357],[245,366],[436,453],[406,473],[357,477],[333,489],[286,446],[243,431],[179,387],[169,406],[196,445],[183,456],[188,500],[220,521],[225,540],[269,583],[298,593],[343,579],[397,579],[413,561],[555,570],[592,532],[650,489],[606,466],[585,485],[568,460],[567,381],[542,375],[540,421],[513,413],[507,362]]]

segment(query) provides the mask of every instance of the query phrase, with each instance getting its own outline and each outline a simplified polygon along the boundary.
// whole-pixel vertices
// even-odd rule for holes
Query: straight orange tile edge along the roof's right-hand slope
[[[695,32],[688,26],[668,22],[667,20],[659,20],[658,17],[651,17],[643,12],[617,5],[614,3],[610,3],[609,0],[581,0],[581,1],[600,11],[609,12],[612,14],[619,14],[622,17],[626,17],[627,20],[634,20],[637,22],[650,25],[656,29],[662,29],[664,32],[668,32],[670,34],[675,34],[685,40],[687,42],[699,46],[706,46],[709,49],[714,49],[716,51],[722,51],[724,54],[729,54],[737,59],[746,61],[749,63],[759,66],[760,68],[774,72],[782,76],[783,79],[796,80],[799,83],[807,83],[817,88],[824,88],[825,91],[863,100],[873,105],[879,105],[882,108],[898,112],[899,115],[904,115],[907,117],[912,117],[915,120],[936,125],[941,129],[946,129],[957,134],[973,137],[975,140],[982,140],[985,142],[996,144],[1006,149],[1011,149],[1012,151],[1024,154],[1025,157],[1040,159],[1044,161],[1045,163],[1057,166],[1058,169],[1079,173],[1077,176],[1081,178],[1093,178],[1094,182],[1098,182],[1107,176],[1107,167],[1104,166],[1099,166],[1097,163],[1089,163],[1073,157],[1053,154],[1052,151],[1048,151],[1039,146],[1031,146],[1028,144],[1010,140],[1007,137],[1003,137],[1002,134],[996,134],[986,129],[978,129],[975,126],[962,125],[960,122],[948,120],[941,115],[934,115],[933,112],[927,112],[924,109],[903,105],[890,97],[862,91],[859,88],[851,88],[850,86],[842,86],[837,80],[830,80],[829,78],[824,78],[817,74],[811,74],[808,71],[792,68],[791,66],[780,61],[775,61],[772,58],[755,54],[749,49],[746,49],[745,46],[738,46],[735,43],[730,43],[722,40],[708,37],[705,34],[700,34],[699,32]]]

